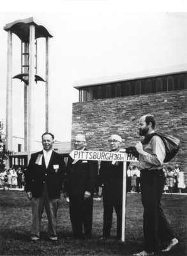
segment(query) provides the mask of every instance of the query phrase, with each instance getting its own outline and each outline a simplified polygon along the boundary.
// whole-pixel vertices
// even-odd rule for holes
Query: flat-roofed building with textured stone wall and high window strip
[[[181,140],[181,148],[169,165],[179,163],[187,182],[187,72],[133,77],[107,83],[80,84],[79,102],[73,104],[71,138],[82,132],[87,147],[107,150],[112,133],[129,147],[140,140],[138,118],[156,117],[156,130]],[[186,183],[187,184],[187,183]]]

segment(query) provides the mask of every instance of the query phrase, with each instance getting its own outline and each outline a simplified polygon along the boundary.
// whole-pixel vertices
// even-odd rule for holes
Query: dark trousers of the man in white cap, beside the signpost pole
[[[111,198],[111,196],[103,195],[103,237],[110,236],[110,229],[112,226],[113,210],[116,211],[117,216],[117,238],[121,238],[122,225],[122,195]]]

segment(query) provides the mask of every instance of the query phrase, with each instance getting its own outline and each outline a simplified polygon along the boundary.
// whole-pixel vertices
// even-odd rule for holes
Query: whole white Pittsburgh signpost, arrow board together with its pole
[[[87,161],[112,161],[113,163],[119,161],[123,162],[123,207],[122,207],[122,235],[121,241],[125,239],[125,213],[126,213],[126,162],[137,162],[137,158],[132,154],[126,154],[123,151],[119,152],[105,152],[105,151],[89,151],[89,150],[73,150],[70,156],[74,160]]]

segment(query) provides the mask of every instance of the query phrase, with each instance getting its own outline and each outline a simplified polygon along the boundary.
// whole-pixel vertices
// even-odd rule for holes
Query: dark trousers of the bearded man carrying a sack
[[[144,240],[145,250],[158,250],[161,242],[170,241],[174,234],[161,209],[161,195],[165,184],[162,170],[141,172],[142,204],[144,206]]]

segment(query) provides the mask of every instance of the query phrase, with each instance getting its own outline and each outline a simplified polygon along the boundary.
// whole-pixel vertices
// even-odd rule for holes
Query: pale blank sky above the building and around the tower
[[[172,1],[154,3],[6,1],[0,12],[0,120],[6,120],[5,24],[34,17],[54,36],[49,42],[49,128],[56,140],[70,141],[72,104],[79,101],[79,93],[73,86],[81,85],[82,81],[125,79],[126,74],[143,74],[146,70],[169,67],[187,70],[186,3],[177,1],[177,6]],[[41,39],[38,44],[38,74],[45,79],[45,42]],[[20,40],[13,35],[13,76],[19,73]],[[13,79],[13,136],[20,137],[24,134],[23,90],[24,84]],[[34,134],[40,140],[45,131],[45,83],[36,84],[34,93]]]

